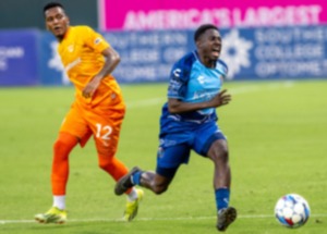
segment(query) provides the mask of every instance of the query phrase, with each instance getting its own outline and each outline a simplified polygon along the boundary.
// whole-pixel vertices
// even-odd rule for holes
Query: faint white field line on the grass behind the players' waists
[[[230,88],[228,91],[231,95],[240,95],[240,94],[249,94],[254,91],[265,91],[265,90],[276,90],[280,88],[291,88],[294,86],[294,82],[287,81],[282,83],[276,83],[276,84],[269,84],[269,85],[251,85],[240,88]],[[161,98],[150,98],[145,100],[138,100],[138,101],[130,101],[126,102],[128,109],[134,109],[134,108],[142,108],[142,107],[150,107],[156,106],[158,103],[164,103],[167,100],[166,97]]]

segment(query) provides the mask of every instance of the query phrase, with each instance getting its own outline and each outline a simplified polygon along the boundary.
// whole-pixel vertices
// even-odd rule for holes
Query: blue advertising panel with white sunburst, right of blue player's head
[[[229,79],[326,78],[327,27],[222,30]]]

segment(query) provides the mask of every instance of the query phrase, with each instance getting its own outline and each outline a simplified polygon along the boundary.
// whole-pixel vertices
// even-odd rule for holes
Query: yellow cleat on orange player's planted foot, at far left
[[[66,221],[65,210],[60,210],[57,207],[51,207],[46,213],[38,213],[34,219],[39,223],[58,223],[62,224]]]

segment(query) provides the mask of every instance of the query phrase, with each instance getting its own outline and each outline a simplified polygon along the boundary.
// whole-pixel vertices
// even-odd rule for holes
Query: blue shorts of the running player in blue
[[[216,122],[204,123],[196,130],[165,135],[160,138],[156,172],[172,177],[180,164],[189,162],[192,149],[206,157],[210,146],[217,139],[226,139],[226,137]]]

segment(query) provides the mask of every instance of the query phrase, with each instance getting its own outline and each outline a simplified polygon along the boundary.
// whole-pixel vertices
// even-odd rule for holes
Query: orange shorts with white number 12
[[[114,156],[125,106],[119,102],[108,107],[87,107],[75,101],[65,115],[59,132],[69,133],[85,146],[93,135],[98,153]]]

